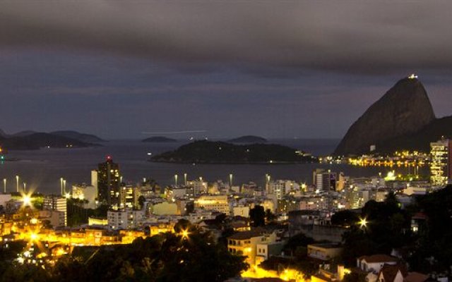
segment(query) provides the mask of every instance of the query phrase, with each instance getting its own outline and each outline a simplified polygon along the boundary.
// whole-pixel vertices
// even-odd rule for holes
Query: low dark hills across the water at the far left
[[[103,142],[95,135],[64,130],[52,133],[37,133],[27,130],[8,135],[0,130],[0,146],[6,151],[15,149],[40,149],[42,147],[91,147]]]

